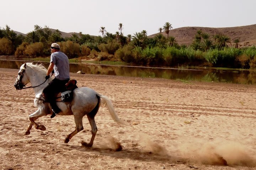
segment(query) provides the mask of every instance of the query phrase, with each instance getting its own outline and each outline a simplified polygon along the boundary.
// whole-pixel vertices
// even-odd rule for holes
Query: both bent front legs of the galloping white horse
[[[30,123],[30,125],[28,126],[28,128],[27,128],[27,130],[26,130],[26,132],[25,132],[25,135],[29,135],[29,134],[30,134],[30,130],[31,130],[31,128],[32,128],[33,125],[34,125],[34,127],[35,127],[36,129],[46,130],[46,127],[45,127],[44,125],[38,125],[38,124],[35,122],[36,119],[38,119],[38,118],[40,118],[40,117],[42,117],[42,116],[44,116],[44,115],[47,115],[47,114],[42,113],[42,112],[40,111],[40,109],[38,109],[36,112],[34,112],[34,113],[32,113],[32,114],[30,114],[30,115],[28,116],[28,118],[30,119],[31,123]]]

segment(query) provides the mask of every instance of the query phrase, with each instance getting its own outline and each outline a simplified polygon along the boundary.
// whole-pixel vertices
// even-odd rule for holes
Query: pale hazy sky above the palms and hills
[[[158,33],[166,22],[180,27],[256,24],[256,0],[3,0],[0,27],[28,33],[34,25],[101,35],[100,27],[123,34]],[[120,31],[119,31],[120,32]]]

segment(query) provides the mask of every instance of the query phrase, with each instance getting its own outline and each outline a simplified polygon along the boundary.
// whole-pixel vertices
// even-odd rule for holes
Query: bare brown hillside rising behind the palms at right
[[[182,27],[171,29],[169,36],[174,36],[178,44],[190,45],[193,41],[194,35],[197,34],[197,30],[202,30],[204,33],[210,35],[223,34],[229,36],[231,42],[235,39],[239,39],[240,46],[256,45],[256,24],[250,26],[241,27],[227,27],[227,28],[209,28],[209,27]],[[157,33],[160,34],[160,33]],[[167,37],[165,32],[162,32]],[[156,34],[150,35],[154,37]]]

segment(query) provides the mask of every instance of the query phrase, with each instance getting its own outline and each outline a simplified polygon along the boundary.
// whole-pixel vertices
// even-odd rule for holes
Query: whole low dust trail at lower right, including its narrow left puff
[[[204,165],[256,166],[252,149],[237,142],[194,140],[192,143],[183,142],[175,149],[170,149],[154,142],[146,134],[139,134],[139,142],[144,152],[152,152],[170,160],[179,158],[182,161]]]

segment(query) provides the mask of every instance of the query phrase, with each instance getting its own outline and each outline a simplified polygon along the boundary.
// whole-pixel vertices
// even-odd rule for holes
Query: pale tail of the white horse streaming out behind
[[[114,107],[110,101],[110,99],[107,96],[101,95],[97,93],[97,96],[99,96],[102,99],[102,104],[106,104],[108,111],[112,117],[112,119],[121,126],[131,126],[130,124],[128,124],[126,121],[120,120],[118,118],[118,115],[116,113],[116,111],[114,110]]]

